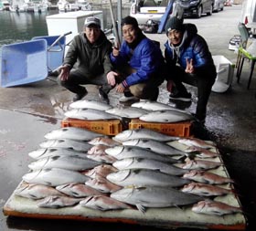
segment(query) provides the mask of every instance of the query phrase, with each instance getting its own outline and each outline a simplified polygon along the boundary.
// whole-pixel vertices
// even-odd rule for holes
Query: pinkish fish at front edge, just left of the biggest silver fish
[[[127,205],[106,195],[88,196],[80,201],[80,205],[101,211],[133,208],[131,205]]]

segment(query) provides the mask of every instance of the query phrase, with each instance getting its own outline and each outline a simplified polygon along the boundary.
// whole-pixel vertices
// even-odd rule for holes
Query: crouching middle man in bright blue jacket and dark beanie
[[[158,86],[165,80],[165,58],[159,43],[145,37],[137,20],[126,16],[122,21],[123,44],[114,47],[111,60],[116,72],[107,75],[109,84],[124,93],[121,102],[157,100]]]

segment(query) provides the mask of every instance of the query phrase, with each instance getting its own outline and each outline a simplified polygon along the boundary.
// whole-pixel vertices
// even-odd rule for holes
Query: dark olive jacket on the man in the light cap
[[[112,70],[111,52],[112,43],[102,31],[101,36],[93,45],[82,32],[73,38],[63,64],[73,68],[77,62],[77,71],[88,78],[93,78]]]

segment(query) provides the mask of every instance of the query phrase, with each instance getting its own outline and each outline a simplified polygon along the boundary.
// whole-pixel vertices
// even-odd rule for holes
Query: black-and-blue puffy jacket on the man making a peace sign
[[[216,68],[205,39],[197,34],[197,27],[193,24],[185,24],[185,32],[181,44],[177,47],[165,42],[165,61],[167,69],[172,69],[179,64],[187,67],[187,58],[193,59],[195,74],[209,78],[216,78]]]

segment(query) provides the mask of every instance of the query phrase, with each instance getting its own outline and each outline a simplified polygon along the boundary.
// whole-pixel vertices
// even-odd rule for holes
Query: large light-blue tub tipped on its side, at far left
[[[48,77],[48,51],[44,39],[5,45],[1,50],[1,87],[13,87]]]

